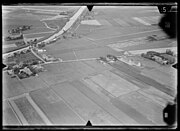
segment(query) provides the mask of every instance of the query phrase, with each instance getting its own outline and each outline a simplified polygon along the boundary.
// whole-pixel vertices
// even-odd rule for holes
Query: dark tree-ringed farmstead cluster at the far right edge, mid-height
[[[169,65],[175,63],[174,53],[171,50],[166,50],[165,53],[159,53],[155,51],[148,51],[147,53],[142,53],[142,57],[156,61],[162,65]]]

